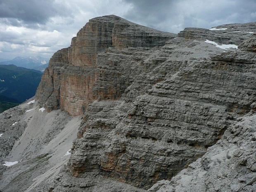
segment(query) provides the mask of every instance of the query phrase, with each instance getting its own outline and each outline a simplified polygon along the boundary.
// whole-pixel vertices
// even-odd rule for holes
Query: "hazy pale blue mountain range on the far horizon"
[[[0,59],[0,65],[16,65],[27,69],[36,69],[41,72],[45,70],[49,63],[49,59],[40,56],[15,57],[12,60],[2,62],[1,60],[2,59]]]

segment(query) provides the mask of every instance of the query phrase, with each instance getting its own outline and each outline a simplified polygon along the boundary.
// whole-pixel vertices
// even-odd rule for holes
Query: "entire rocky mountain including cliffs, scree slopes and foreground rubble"
[[[35,101],[0,115],[13,138],[1,159],[20,160],[0,190],[254,191],[254,31],[91,19],[52,56]]]

